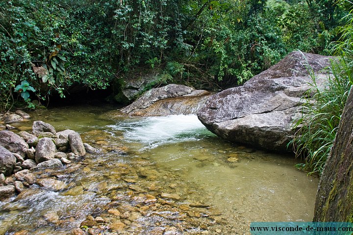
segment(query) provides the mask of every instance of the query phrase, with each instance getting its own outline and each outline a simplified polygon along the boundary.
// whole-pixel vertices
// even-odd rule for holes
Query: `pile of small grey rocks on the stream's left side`
[[[0,200],[35,184],[31,171],[71,164],[86,152],[93,153],[96,149],[83,143],[77,132],[69,129],[56,132],[43,121],[33,122],[32,133],[0,131]]]

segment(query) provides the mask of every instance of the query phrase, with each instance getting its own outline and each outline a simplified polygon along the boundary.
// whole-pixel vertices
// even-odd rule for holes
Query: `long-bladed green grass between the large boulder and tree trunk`
[[[295,152],[305,159],[305,164],[297,166],[309,173],[323,171],[353,86],[353,11],[343,21],[347,24],[339,29],[342,36],[333,48],[339,60],[331,62],[328,84],[324,89],[318,87],[313,74],[313,91],[309,93],[315,94],[306,99],[303,117],[296,123],[299,130],[293,141]]]

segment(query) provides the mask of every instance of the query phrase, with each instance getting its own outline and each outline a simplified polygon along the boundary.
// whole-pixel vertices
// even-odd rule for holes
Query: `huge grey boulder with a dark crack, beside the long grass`
[[[332,57],[292,52],[243,86],[212,95],[199,111],[201,122],[231,142],[275,151],[290,151],[292,122],[301,115],[301,97],[310,89],[310,72],[318,85],[327,81],[323,71]]]

